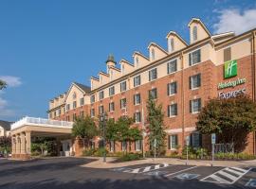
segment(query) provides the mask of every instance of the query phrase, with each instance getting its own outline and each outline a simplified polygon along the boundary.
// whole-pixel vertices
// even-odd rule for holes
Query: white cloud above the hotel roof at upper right
[[[218,10],[218,21],[213,25],[214,33],[234,31],[241,34],[256,27],[256,9]]]

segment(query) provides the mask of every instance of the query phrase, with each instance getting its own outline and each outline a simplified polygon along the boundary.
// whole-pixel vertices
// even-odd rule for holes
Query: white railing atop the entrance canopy
[[[32,124],[43,127],[55,127],[55,128],[72,128],[73,122],[50,120],[44,118],[24,117],[21,120],[10,125],[10,129],[21,128],[25,125]]]

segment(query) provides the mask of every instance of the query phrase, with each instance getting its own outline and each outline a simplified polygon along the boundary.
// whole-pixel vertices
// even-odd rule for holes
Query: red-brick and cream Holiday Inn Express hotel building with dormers
[[[91,77],[90,87],[74,82],[65,94],[50,100],[49,119],[73,121],[76,116],[98,117],[107,112],[109,118],[117,120],[127,114],[135,117],[134,125],[141,129],[142,116],[146,120],[146,101],[152,94],[165,113],[167,154],[176,146],[185,146],[187,136],[191,146],[209,146],[210,137],[201,136],[195,129],[198,112],[207,101],[239,93],[255,100],[256,28],[240,35],[211,35],[197,18],[188,27],[189,43],[170,31],[166,36],[167,50],[150,43],[149,55],[136,51],[133,62],[120,60],[119,66],[109,56],[106,72]],[[245,152],[256,153],[255,138],[255,132],[249,133]],[[125,145],[116,142],[108,147],[119,151]],[[75,143],[77,151],[79,147]],[[141,150],[141,142],[135,142],[132,150]]]

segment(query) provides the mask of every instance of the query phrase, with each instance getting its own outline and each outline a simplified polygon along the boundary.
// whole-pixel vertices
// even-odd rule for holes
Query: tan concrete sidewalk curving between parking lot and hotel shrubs
[[[144,163],[169,163],[169,164],[186,164],[186,160],[171,159],[171,158],[147,158],[145,160],[131,161],[125,163],[113,163],[116,158],[106,158],[106,163],[103,163],[102,158],[86,157],[88,159],[96,160],[92,163],[87,163],[82,166],[90,168],[115,168],[122,166],[131,166]],[[196,166],[211,166],[211,161],[189,160],[189,165]],[[252,161],[214,161],[213,166],[236,166],[236,167],[256,167],[256,160]]]

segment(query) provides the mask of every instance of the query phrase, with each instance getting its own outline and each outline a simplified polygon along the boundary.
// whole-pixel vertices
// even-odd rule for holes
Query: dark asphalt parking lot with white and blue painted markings
[[[256,188],[256,168],[148,163],[110,169],[83,167],[93,160],[0,160],[0,188]]]

